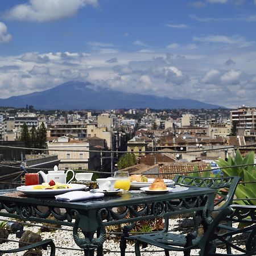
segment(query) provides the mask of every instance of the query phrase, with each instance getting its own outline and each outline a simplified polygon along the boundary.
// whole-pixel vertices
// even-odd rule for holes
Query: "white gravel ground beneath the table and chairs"
[[[179,219],[175,219],[175,220],[170,220],[170,226],[172,228],[174,228],[175,226],[177,226],[177,224],[180,223]],[[24,230],[31,230],[35,233],[37,233],[39,231],[38,227],[34,227],[34,226],[24,226]],[[63,249],[56,249],[56,256],[82,256],[84,255],[83,251],[79,250],[79,247],[75,244],[75,242],[73,241],[73,236],[72,236],[72,232],[67,231],[67,230],[56,230],[55,232],[42,232],[40,233],[40,235],[42,236],[42,239],[47,239],[47,238],[52,238],[52,240],[55,242],[55,245],[57,247],[63,247]],[[18,240],[18,238],[16,238],[15,234],[10,234],[9,235],[9,240]],[[1,245],[1,249],[5,250],[5,249],[13,249],[14,247],[17,247],[18,243],[16,242],[8,242],[8,243],[2,243]],[[77,249],[77,250],[70,250],[70,249]],[[119,251],[119,244],[118,244],[118,240],[117,239],[108,239],[105,241],[104,243],[104,250],[105,251]],[[164,252],[159,252],[159,248],[154,247],[154,246],[148,246],[146,247],[146,249],[142,249],[141,251],[143,252],[144,250],[148,251],[145,253],[142,253],[142,256],[164,256]],[[47,251],[43,251],[43,256],[47,256],[49,255],[49,252]],[[127,249],[126,249],[127,256],[131,256],[134,255],[134,244],[127,244]],[[130,251],[130,253],[128,253],[128,251]],[[198,255],[199,250],[192,250],[192,255]],[[15,254],[9,254],[8,256],[22,256],[24,254],[23,252],[20,253],[15,253]],[[7,254],[6,254],[7,255]],[[110,252],[107,253],[105,252],[104,255],[106,256],[119,256],[120,253],[118,252]],[[175,255],[175,256],[181,256],[183,255],[182,252],[177,252],[177,251],[170,251],[170,255]]]

